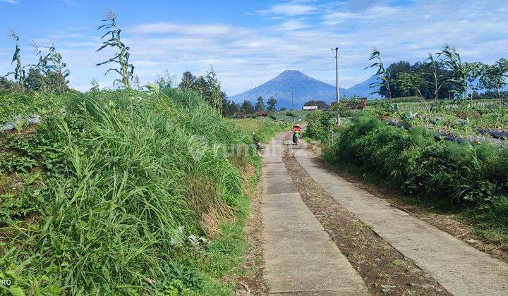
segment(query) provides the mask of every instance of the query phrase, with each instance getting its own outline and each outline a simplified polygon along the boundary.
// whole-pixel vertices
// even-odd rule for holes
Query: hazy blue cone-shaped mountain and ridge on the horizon
[[[344,97],[344,95],[346,97],[358,95],[375,99],[375,96],[370,95],[372,90],[369,88],[373,80],[375,80],[375,77],[371,77],[348,89],[339,87],[340,95],[341,97]],[[248,100],[255,104],[260,96],[265,99],[265,102],[273,96],[278,101],[277,108],[286,107],[289,109],[291,108],[291,91],[293,92],[295,109],[301,109],[306,101],[314,98],[327,103],[334,101],[336,98],[334,85],[311,78],[298,70],[285,70],[272,80],[254,87],[252,90],[231,96],[229,99],[237,103]]]

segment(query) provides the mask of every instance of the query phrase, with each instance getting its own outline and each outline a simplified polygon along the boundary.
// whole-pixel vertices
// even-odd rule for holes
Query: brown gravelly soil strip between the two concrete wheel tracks
[[[284,165],[330,238],[374,295],[450,295],[428,273],[335,202],[285,148]]]

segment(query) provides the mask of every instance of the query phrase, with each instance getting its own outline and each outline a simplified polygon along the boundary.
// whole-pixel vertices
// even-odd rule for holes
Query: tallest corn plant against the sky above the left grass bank
[[[114,84],[116,82],[119,82],[123,85],[123,87],[130,89],[131,80],[133,79],[134,75],[134,66],[132,63],[129,63],[129,58],[131,57],[129,50],[131,48],[127,47],[121,41],[120,37],[121,30],[118,27],[118,25],[116,25],[116,15],[112,9],[106,14],[106,18],[102,20],[102,23],[104,23],[104,25],[100,25],[99,27],[97,27],[97,30],[104,29],[108,31],[104,35],[102,35],[101,39],[104,39],[104,37],[107,36],[110,37],[106,41],[102,42],[102,46],[99,47],[97,51],[101,51],[106,47],[116,47],[117,52],[115,56],[109,58],[109,60],[107,61],[103,61],[102,63],[97,63],[96,66],[101,66],[107,63],[118,63],[120,68],[109,68],[106,71],[106,73],[104,73],[104,75],[107,75],[109,71],[119,73],[121,78],[114,80]]]

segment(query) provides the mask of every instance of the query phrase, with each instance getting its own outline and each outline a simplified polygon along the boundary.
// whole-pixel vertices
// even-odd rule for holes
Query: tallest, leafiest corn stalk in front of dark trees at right
[[[462,63],[460,54],[449,45],[445,45],[442,51],[437,53],[437,57],[444,56],[443,63],[452,71],[452,77],[447,79],[453,86],[451,91],[457,99],[466,99],[468,87],[468,67]]]

